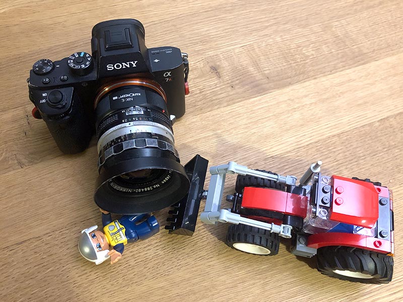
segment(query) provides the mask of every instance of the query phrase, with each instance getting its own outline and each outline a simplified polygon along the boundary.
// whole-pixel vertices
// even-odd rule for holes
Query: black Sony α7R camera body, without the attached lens
[[[105,21],[92,30],[92,55],[75,52],[59,61],[34,63],[28,80],[33,115],[43,118],[63,153],[87,148],[95,131],[94,101],[117,79],[134,77],[154,83],[165,94],[169,115],[179,118],[185,113],[187,54],[176,47],[149,49],[144,37],[144,27],[137,20]],[[139,102],[130,95],[117,96],[116,101],[136,106]]]

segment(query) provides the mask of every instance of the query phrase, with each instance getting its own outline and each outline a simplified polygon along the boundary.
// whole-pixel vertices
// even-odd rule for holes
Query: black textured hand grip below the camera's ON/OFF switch
[[[73,98],[71,111],[68,114],[43,119],[64,154],[80,153],[88,147],[94,133],[94,125],[90,123],[91,118],[85,116],[84,108],[77,96]]]

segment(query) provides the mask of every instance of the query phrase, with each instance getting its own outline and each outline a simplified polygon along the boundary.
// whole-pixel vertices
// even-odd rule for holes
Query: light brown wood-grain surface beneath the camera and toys
[[[400,0],[2,0],[0,300],[401,300],[402,14]],[[85,261],[80,231],[101,224],[96,141],[63,155],[31,116],[26,79],[39,58],[91,52],[92,27],[118,18],[140,20],[148,47],[189,54],[191,93],[174,125],[182,163],[200,154],[210,166],[232,160],[300,177],[321,160],[325,173],[392,188],[392,282],[323,276],[314,259],[290,254],[287,241],[275,257],[240,253],[223,242],[227,225],[200,221],[191,238],[161,228],[127,246],[116,265]],[[227,178],[226,194],[234,183]],[[156,216],[166,224],[166,210]]]

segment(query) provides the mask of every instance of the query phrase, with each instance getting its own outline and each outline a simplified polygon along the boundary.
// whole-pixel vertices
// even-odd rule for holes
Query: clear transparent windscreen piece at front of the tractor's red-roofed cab
[[[329,217],[330,213],[327,209],[319,208],[319,212],[316,215],[315,206],[309,205],[307,215],[304,219],[304,232],[310,234],[325,233],[340,223],[329,220]]]

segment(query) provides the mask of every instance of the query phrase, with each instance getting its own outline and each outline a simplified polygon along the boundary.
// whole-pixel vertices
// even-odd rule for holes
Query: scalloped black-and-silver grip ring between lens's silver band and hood
[[[159,148],[161,150],[168,150],[171,152],[179,161],[179,155],[173,144],[168,141],[156,138],[133,138],[127,139],[124,141],[120,141],[116,144],[113,144],[109,148],[105,150],[101,150],[100,156],[98,159],[98,171],[101,169],[102,165],[106,162],[106,160],[116,154],[123,152],[124,150],[133,149],[133,148],[146,148],[153,147]]]

